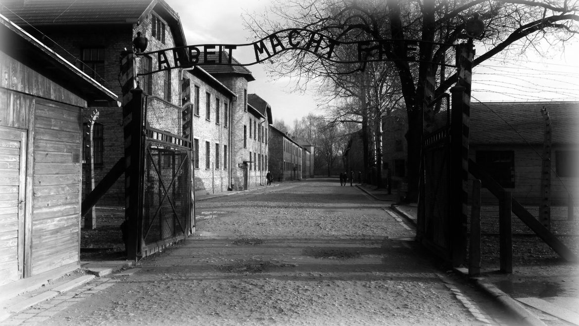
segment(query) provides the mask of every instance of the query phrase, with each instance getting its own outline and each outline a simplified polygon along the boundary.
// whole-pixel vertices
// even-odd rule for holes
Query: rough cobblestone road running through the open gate
[[[356,187],[285,183],[196,208],[195,236],[140,261],[140,272],[98,279],[5,322],[510,324],[494,302],[421,253],[386,203]]]

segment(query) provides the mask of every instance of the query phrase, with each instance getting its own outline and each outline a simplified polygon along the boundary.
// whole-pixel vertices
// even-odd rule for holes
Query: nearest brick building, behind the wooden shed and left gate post
[[[122,97],[119,54],[131,49],[137,32],[148,38],[146,51],[185,46],[179,16],[163,0],[11,1],[1,13],[74,64],[104,87]],[[173,58],[168,57],[173,64]],[[156,58],[137,58],[137,73],[152,71]],[[138,78],[145,94],[169,105],[180,106],[181,72],[163,71]],[[94,175],[96,183],[124,156],[122,109],[117,102],[91,105],[85,123],[97,109],[94,127]],[[124,176],[100,203],[124,203]]]

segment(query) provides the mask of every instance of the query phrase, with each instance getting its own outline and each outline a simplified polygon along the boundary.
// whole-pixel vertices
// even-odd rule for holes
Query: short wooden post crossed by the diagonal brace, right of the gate
[[[500,271],[512,273],[512,198],[510,191],[501,191],[499,198]]]

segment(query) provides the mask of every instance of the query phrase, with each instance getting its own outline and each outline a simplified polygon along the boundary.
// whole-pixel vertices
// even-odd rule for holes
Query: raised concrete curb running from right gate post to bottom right
[[[455,268],[455,272],[462,276],[468,277],[468,272],[461,271]],[[490,283],[484,277],[468,277],[474,284],[479,288],[479,290],[485,292],[498,301],[505,309],[508,310],[513,316],[516,316],[517,320],[522,324],[531,326],[547,326],[533,313],[529,312],[521,303],[511,298],[510,295],[501,291],[494,284]]]

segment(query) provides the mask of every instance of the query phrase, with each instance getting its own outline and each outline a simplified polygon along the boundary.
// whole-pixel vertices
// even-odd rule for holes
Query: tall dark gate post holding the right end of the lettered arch
[[[450,239],[453,266],[465,263],[468,214],[468,135],[470,128],[471,72],[474,50],[472,39],[456,49],[459,81],[452,92],[450,124]]]

